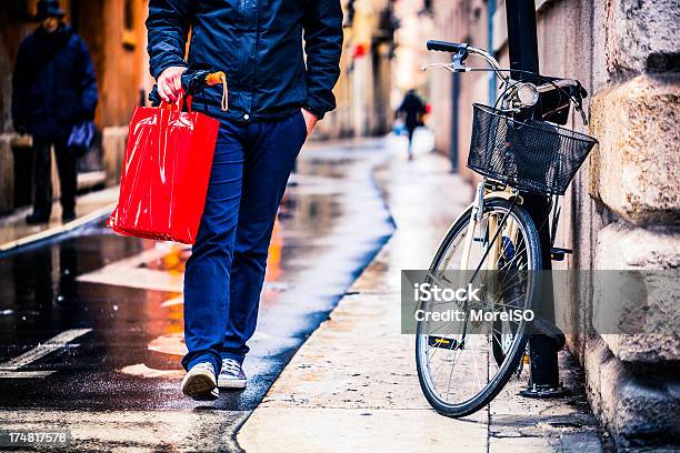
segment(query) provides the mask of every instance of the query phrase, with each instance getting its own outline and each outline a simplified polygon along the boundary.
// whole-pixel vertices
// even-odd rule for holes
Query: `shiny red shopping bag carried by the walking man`
[[[196,241],[220,123],[182,100],[138,107],[130,121],[118,207],[108,226],[137,238]]]

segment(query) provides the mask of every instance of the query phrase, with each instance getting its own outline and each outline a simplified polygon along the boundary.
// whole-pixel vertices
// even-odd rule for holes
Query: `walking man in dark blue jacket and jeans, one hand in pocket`
[[[147,28],[166,101],[178,99],[189,64],[209,64],[229,82],[228,110],[217,88],[192,102],[221,128],[184,274],[182,392],[213,400],[218,385],[246,386],[241,365],[277,210],[308,134],[336,107],[342,9],[340,0],[151,0]]]

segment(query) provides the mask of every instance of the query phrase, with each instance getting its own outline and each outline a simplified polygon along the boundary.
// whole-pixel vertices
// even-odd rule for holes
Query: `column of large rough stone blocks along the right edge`
[[[599,2],[597,2],[599,3]],[[680,1],[596,4],[590,132],[600,145],[578,190],[594,203],[594,269],[680,266]],[[577,209],[576,215],[579,214]],[[574,225],[573,234],[580,228]],[[574,245],[579,245],[577,242]],[[680,294],[649,293],[650,313],[677,320]],[[593,302],[597,309],[597,298]],[[673,319],[674,318],[674,319]],[[601,329],[593,325],[593,332]],[[603,332],[602,332],[603,333]],[[680,338],[647,331],[593,334],[580,351],[596,413],[622,449],[680,439]]]

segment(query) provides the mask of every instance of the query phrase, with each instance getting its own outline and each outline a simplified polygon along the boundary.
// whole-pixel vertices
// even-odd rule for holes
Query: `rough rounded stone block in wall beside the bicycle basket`
[[[641,76],[591,103],[590,193],[638,224],[680,223],[680,77]]]

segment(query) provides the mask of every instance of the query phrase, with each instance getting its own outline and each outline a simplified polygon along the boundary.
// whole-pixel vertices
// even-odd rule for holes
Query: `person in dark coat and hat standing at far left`
[[[77,159],[68,147],[73,127],[94,118],[97,81],[84,41],[62,22],[57,0],[38,2],[40,27],[19,46],[12,78],[12,121],[33,137],[33,213],[44,223],[52,210],[51,147],[61,187],[62,220],[76,217]]]

